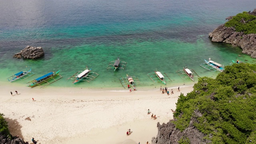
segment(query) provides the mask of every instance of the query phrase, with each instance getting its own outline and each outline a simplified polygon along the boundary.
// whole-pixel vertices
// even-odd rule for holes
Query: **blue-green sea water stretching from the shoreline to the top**
[[[64,78],[50,86],[122,88],[119,79],[130,74],[140,80],[137,88],[158,87],[147,75],[155,70],[170,77],[167,86],[194,84],[176,71],[188,66],[215,77],[199,66],[204,59],[255,63],[242,49],[208,38],[226,17],[254,6],[255,0],[0,0],[0,81],[9,84],[6,78],[28,66],[36,75],[13,85],[53,70]],[[27,45],[41,46],[44,57],[12,58]],[[107,70],[117,57],[127,62],[125,70]],[[100,75],[90,83],[66,80],[86,66]]]

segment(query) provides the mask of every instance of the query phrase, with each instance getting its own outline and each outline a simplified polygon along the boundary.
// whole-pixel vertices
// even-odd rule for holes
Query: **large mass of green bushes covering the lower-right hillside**
[[[194,120],[212,144],[255,144],[256,65],[234,64],[216,79],[202,77],[176,105],[173,122],[181,131]]]

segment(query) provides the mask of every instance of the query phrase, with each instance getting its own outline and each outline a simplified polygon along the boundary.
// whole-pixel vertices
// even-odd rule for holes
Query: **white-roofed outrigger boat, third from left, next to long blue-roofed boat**
[[[96,72],[91,72],[91,70],[92,70],[92,68],[90,68],[90,70],[88,70],[88,68],[86,67],[86,69],[84,71],[78,71],[73,76],[70,76],[70,78],[68,78],[68,79],[74,80],[73,84],[77,84],[81,80],[90,82],[90,81],[94,80],[97,76],[99,76],[99,74],[97,74]],[[66,80],[68,80],[68,79],[66,79]]]

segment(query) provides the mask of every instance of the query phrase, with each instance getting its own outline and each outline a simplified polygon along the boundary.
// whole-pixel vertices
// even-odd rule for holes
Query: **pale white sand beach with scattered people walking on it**
[[[1,86],[0,112],[7,118],[11,134],[29,143],[34,137],[38,144],[151,144],[156,124],[173,118],[171,109],[175,110],[180,93],[193,90],[192,86],[180,87],[180,92],[177,87],[168,91],[171,89],[174,94],[168,96],[159,88],[129,92]],[[131,134],[126,136],[128,129]]]

